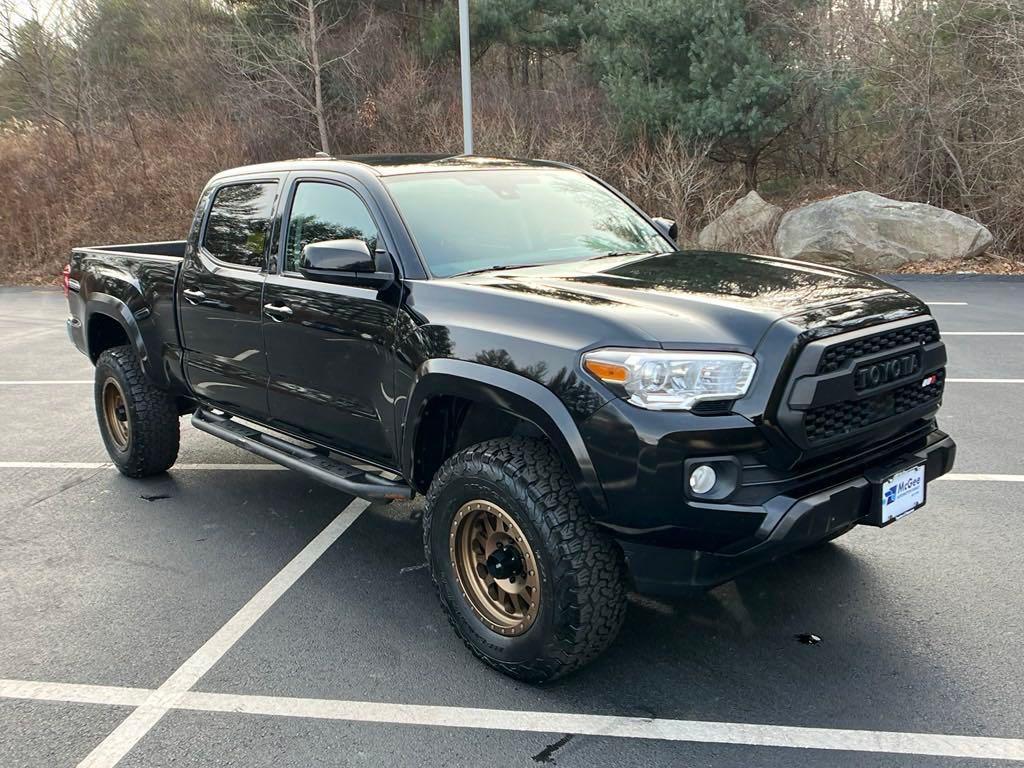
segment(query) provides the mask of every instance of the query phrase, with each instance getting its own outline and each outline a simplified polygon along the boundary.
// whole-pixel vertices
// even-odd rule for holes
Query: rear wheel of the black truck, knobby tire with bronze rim
[[[148,477],[173,466],[180,439],[177,407],[170,394],[146,378],[135,350],[130,346],[104,350],[96,360],[95,377],[99,432],[118,470],[128,477]],[[104,392],[114,390],[121,395],[121,427],[112,427],[105,413]]]

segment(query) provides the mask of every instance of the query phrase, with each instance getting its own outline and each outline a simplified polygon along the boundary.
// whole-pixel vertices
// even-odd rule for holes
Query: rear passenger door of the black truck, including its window
[[[265,419],[262,294],[283,175],[237,177],[207,191],[178,281],[185,376],[203,400]]]

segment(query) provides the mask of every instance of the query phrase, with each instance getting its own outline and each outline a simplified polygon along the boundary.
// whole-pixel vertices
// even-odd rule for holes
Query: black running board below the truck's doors
[[[387,480],[332,459],[327,453],[304,449],[266,432],[260,432],[258,429],[232,421],[229,416],[200,409],[193,414],[191,423],[196,429],[360,499],[413,498],[413,488],[403,482]]]

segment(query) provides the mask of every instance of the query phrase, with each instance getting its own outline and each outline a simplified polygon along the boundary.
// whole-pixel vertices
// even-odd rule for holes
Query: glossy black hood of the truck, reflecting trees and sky
[[[577,305],[665,346],[753,349],[773,324],[824,336],[921,314],[916,298],[876,278],[806,262],[711,251],[628,256],[450,279]]]

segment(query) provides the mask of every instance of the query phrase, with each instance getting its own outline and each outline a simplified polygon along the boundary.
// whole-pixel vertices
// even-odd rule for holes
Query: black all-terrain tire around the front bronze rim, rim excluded
[[[525,535],[540,573],[540,608],[508,637],[480,621],[460,587],[449,541],[463,505],[482,500]],[[583,667],[615,639],[626,616],[623,553],[584,511],[552,447],[517,437],[487,440],[449,459],[427,494],[423,546],[441,606],[456,633],[484,663],[543,683]]]

